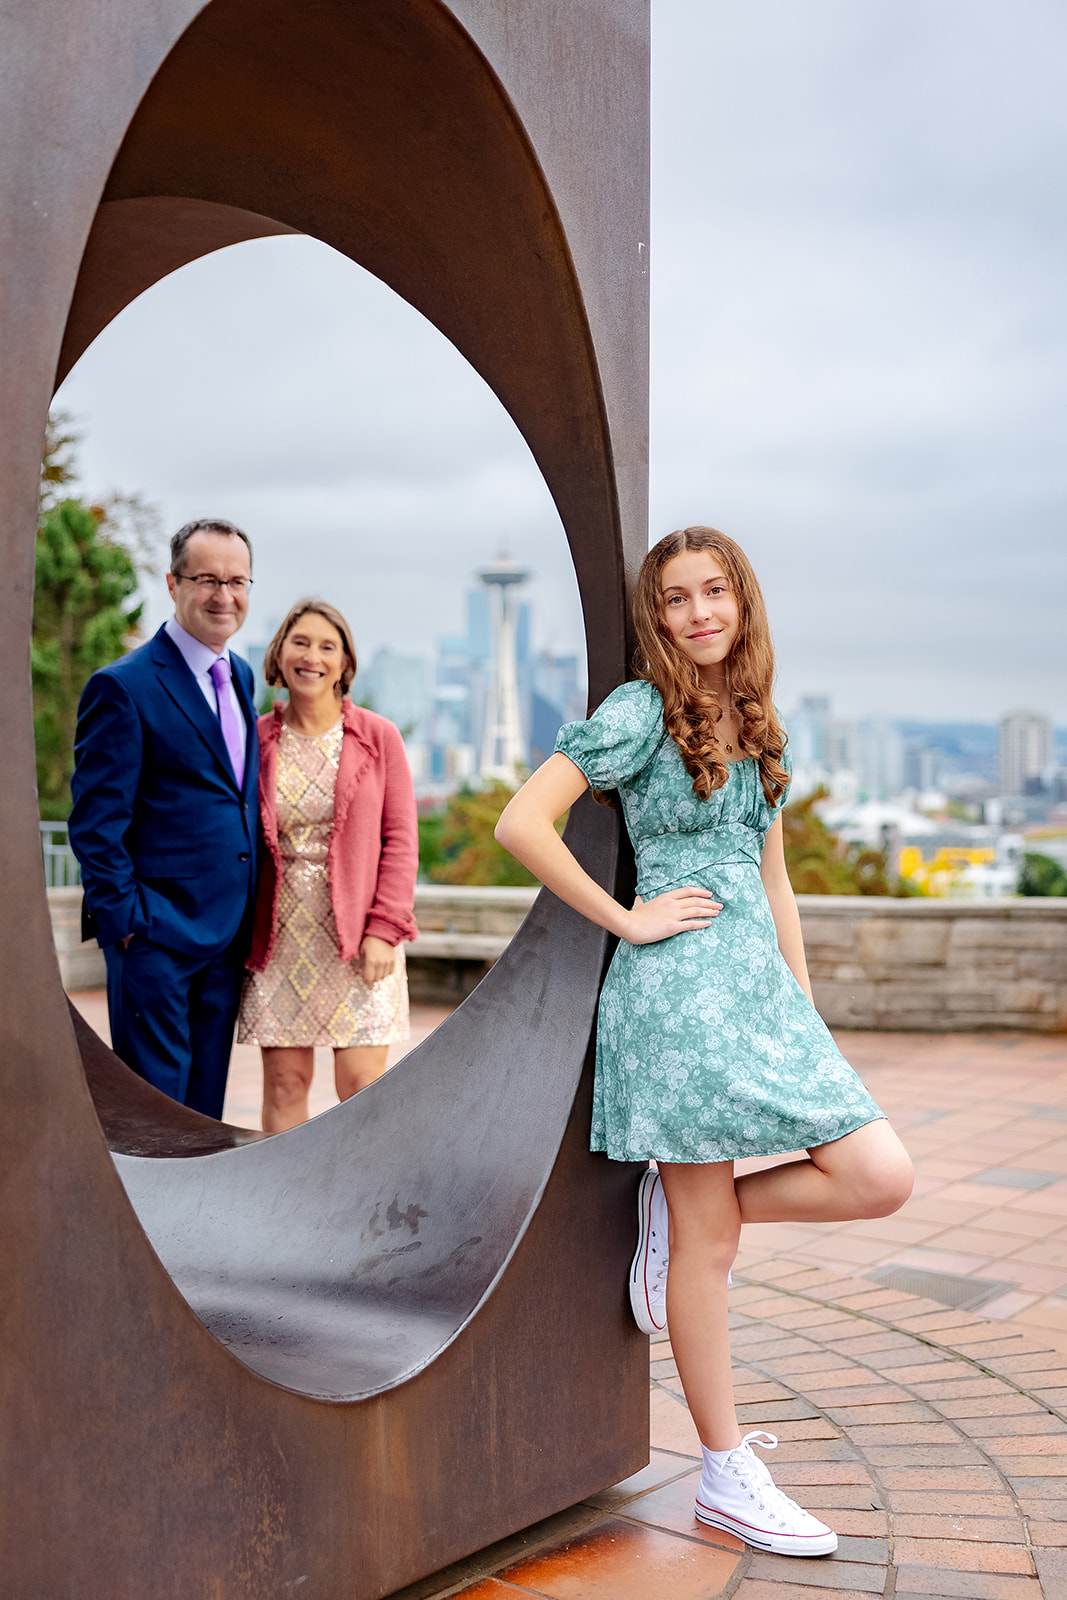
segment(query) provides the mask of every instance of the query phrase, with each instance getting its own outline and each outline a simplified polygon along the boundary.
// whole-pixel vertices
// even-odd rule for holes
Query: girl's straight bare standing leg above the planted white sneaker
[[[667,1326],[701,1443],[741,1443],[729,1365],[726,1274],[737,1254],[741,1213],[733,1162],[659,1162],[670,1218]]]

